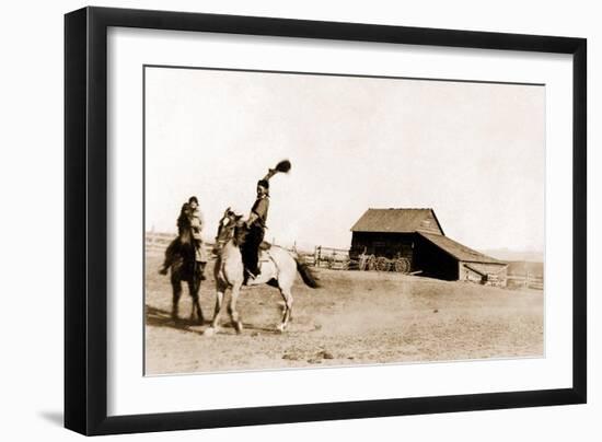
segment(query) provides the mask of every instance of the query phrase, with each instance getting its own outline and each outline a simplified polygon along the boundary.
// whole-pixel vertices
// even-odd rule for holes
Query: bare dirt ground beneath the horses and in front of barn
[[[264,286],[241,292],[242,335],[224,311],[222,334],[206,337],[216,299],[212,271],[200,288],[206,324],[187,319],[187,288],[183,318],[174,323],[171,284],[158,274],[160,263],[160,255],[147,256],[147,375],[543,356],[542,291],[316,269],[323,287],[310,289],[298,278],[285,334],[276,332],[280,294]]]

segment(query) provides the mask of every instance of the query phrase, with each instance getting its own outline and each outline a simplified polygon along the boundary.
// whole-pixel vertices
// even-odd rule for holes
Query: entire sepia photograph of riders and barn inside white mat
[[[543,358],[545,108],[144,66],[144,375]]]

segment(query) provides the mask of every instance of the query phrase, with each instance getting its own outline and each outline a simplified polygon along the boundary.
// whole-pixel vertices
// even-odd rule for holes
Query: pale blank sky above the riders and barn
[[[545,88],[146,69],[146,228],[200,201],[211,241],[270,181],[266,239],[348,248],[368,208],[433,208],[472,248],[544,248]]]

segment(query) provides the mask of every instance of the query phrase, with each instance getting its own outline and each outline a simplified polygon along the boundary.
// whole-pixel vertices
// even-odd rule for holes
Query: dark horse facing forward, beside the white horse
[[[193,299],[193,309],[190,311],[190,321],[196,319],[199,324],[205,322],[202,311],[198,302],[198,292],[201,281],[200,264],[196,259],[196,251],[193,240],[193,231],[189,223],[182,223],[180,229],[180,246],[177,258],[170,266],[171,282],[173,289],[172,318],[178,319],[178,303],[182,295],[182,281],[188,283],[188,292]]]

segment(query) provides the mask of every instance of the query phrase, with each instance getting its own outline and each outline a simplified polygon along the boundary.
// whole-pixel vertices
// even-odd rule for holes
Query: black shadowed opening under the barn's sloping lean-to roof
[[[455,281],[459,276],[458,259],[419,235],[416,235],[413,269],[421,270],[420,276],[448,281]]]

